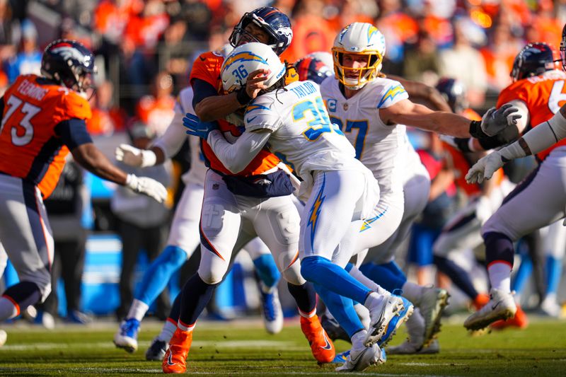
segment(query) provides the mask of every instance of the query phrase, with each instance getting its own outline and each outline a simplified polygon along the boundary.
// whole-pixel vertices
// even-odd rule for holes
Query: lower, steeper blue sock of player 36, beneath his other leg
[[[314,289],[318,296],[322,298],[330,313],[340,323],[340,326],[348,333],[349,337],[352,337],[360,330],[364,330],[364,325],[358,318],[351,298],[335,294],[320,284],[314,284]]]

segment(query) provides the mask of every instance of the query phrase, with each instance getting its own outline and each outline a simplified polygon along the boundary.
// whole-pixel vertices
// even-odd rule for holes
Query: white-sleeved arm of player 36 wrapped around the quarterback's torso
[[[214,130],[209,133],[207,143],[214,151],[220,162],[232,173],[241,172],[261,151],[270,138],[271,132],[244,132],[234,144],[230,144],[221,132]]]

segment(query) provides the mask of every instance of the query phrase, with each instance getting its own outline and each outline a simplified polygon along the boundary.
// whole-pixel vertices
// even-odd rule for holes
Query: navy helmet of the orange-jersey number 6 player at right
[[[513,62],[513,81],[538,76],[555,68],[553,50],[543,42],[529,43],[521,49]]]

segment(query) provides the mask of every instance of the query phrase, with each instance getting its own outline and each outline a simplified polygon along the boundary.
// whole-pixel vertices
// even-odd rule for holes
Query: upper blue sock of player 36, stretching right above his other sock
[[[342,267],[314,255],[301,260],[301,275],[313,284],[319,284],[340,296],[364,303],[371,290],[354,279]]]

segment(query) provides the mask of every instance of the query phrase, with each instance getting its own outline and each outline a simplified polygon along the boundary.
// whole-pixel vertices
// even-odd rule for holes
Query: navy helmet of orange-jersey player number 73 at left
[[[92,78],[96,73],[94,55],[76,40],[54,40],[41,57],[41,74],[62,86],[84,92],[88,83],[84,78]]]

